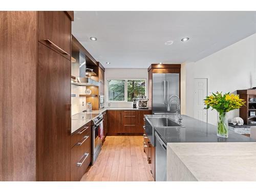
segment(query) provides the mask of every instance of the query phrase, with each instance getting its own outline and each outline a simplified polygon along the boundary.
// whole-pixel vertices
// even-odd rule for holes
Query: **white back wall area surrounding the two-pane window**
[[[132,108],[132,102],[109,102],[110,106],[108,106],[108,102],[106,102],[106,80],[109,78],[143,78],[146,79],[146,94],[147,94],[147,85],[148,85],[148,73],[147,69],[112,69],[106,68],[105,69],[105,107],[108,108]]]

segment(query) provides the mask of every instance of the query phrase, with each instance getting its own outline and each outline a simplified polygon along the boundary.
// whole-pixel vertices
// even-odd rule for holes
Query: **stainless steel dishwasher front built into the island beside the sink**
[[[155,132],[156,181],[166,181],[166,144]]]

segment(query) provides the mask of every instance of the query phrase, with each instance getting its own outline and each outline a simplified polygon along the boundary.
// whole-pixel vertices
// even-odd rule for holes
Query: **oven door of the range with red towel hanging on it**
[[[101,150],[101,146],[102,146],[102,140],[99,138],[99,125],[100,125],[100,122],[97,123],[97,125],[93,126],[93,152],[92,152],[93,158],[92,158],[92,164],[94,164],[94,162],[96,161],[96,159],[99,155],[99,152]]]

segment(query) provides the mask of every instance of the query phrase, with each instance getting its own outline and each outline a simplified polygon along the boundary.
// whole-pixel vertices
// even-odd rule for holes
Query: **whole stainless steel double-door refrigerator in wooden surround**
[[[177,101],[172,101],[170,111],[167,111],[168,98],[172,95],[180,97],[179,73],[153,73],[152,111],[158,113],[175,113]]]

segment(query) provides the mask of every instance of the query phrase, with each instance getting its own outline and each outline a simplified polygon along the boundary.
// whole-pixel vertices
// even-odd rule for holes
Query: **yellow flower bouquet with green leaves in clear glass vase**
[[[228,123],[226,119],[226,113],[234,109],[239,109],[241,106],[245,105],[245,101],[240,99],[238,95],[225,93],[222,95],[222,92],[212,93],[212,95],[207,96],[204,99],[206,104],[206,109],[210,107],[212,110],[218,112],[218,132],[219,137],[228,137]]]

